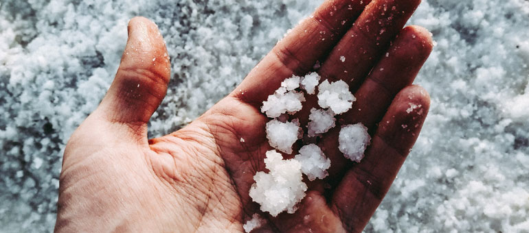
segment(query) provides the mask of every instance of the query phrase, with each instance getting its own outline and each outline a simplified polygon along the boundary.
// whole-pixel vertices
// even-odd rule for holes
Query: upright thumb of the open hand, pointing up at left
[[[150,116],[166,95],[169,79],[169,56],[157,25],[135,17],[128,23],[120,68],[96,112],[105,121],[145,134]]]

